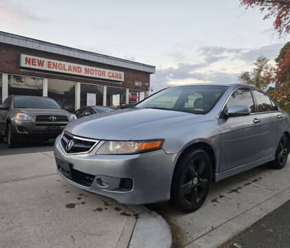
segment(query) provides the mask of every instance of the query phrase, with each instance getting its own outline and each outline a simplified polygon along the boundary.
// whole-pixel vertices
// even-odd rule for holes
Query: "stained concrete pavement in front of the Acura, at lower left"
[[[144,206],[65,183],[52,152],[0,157],[0,247],[170,247],[170,229]]]

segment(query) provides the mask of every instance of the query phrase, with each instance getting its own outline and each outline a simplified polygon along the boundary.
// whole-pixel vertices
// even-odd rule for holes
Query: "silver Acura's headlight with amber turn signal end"
[[[105,141],[96,154],[138,154],[160,149],[163,140],[154,141]]]

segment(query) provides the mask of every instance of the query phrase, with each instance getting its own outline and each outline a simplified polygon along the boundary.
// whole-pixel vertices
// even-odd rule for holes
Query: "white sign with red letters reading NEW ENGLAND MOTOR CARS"
[[[124,72],[95,68],[87,65],[69,63],[64,61],[55,61],[37,56],[21,54],[21,68],[30,68],[36,70],[45,70],[49,72],[61,72],[73,74],[76,76],[90,76],[96,79],[109,79],[113,81],[124,81]]]

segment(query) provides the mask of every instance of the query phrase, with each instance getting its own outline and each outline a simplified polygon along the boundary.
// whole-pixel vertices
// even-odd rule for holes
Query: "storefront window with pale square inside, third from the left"
[[[81,83],[81,107],[103,105],[103,86]]]

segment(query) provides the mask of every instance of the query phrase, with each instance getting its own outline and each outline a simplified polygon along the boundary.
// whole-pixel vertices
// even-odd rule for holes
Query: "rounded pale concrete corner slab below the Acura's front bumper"
[[[136,209],[132,210],[136,211]],[[142,206],[142,211],[137,212],[139,212],[138,219],[128,247],[172,248],[172,233],[165,219],[144,206]]]

